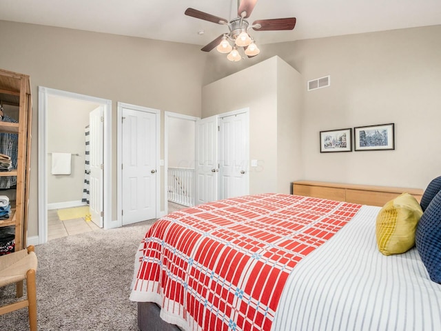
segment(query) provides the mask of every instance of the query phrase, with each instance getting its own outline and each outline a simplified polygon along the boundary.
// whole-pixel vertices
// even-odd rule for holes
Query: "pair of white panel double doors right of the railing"
[[[249,113],[196,121],[196,204],[249,194]]]

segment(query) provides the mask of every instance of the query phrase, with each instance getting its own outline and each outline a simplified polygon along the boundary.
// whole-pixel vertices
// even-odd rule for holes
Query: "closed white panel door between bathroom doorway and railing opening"
[[[123,225],[156,217],[156,116],[123,108]]]

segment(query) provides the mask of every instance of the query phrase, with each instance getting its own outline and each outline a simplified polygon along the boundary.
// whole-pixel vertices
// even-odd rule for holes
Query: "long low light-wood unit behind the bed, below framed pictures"
[[[418,202],[423,190],[419,188],[393,188],[389,186],[327,183],[325,181],[294,181],[293,194],[336,201],[383,206],[403,192],[412,194]]]

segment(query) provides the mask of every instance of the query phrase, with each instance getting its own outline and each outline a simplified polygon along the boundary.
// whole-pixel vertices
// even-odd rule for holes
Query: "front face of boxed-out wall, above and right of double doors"
[[[202,118],[249,108],[249,159],[258,160],[249,172],[250,194],[277,190],[276,74],[272,58],[202,89]]]

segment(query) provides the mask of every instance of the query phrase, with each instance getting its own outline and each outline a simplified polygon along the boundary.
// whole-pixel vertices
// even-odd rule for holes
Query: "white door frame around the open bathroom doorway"
[[[38,87],[39,91],[39,123],[38,123],[38,146],[39,146],[39,244],[48,241],[48,97],[65,97],[79,101],[99,103],[104,110],[104,174],[103,174],[103,211],[104,228],[114,228],[112,222],[112,101],[85,94],[55,90],[53,88]]]

